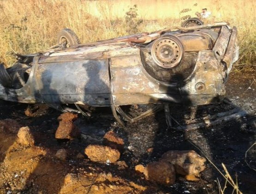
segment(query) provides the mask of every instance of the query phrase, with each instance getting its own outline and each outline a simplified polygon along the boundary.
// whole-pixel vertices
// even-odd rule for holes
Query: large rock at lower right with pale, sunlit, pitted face
[[[173,150],[164,153],[160,161],[174,165],[177,174],[199,176],[199,173],[205,169],[204,162],[206,159],[202,158],[194,150]]]

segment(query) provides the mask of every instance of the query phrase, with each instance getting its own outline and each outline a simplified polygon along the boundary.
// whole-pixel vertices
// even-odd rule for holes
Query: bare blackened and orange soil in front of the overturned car
[[[15,122],[29,126],[35,137],[35,146],[25,147],[17,143],[16,129],[0,128],[0,194],[219,193],[216,180],[222,186],[225,181],[209,162],[200,181],[189,182],[178,177],[170,187],[148,182],[135,172],[135,165],[156,161],[168,150],[195,150],[201,156],[205,154],[222,172],[221,163],[224,163],[232,177],[237,177],[240,190],[244,194],[254,194],[256,171],[251,168],[256,168],[256,147],[247,153],[246,161],[251,168],[245,163],[245,153],[256,142],[256,82],[252,76],[232,75],[226,90],[227,100],[250,115],[190,131],[167,129],[163,112],[130,123],[126,129],[119,128],[114,120],[87,120],[80,116],[76,122],[83,132],[82,137],[71,141],[54,138],[60,112],[41,105],[28,117],[24,114],[28,105],[0,101],[0,120],[14,119],[9,124],[12,128]],[[190,118],[229,110],[231,105],[171,107],[173,117],[182,124]],[[84,155],[84,148],[89,144],[101,144],[103,135],[110,129],[125,141],[125,151],[119,161],[125,161],[128,167],[120,162],[91,162]],[[153,151],[148,152],[152,147]],[[55,157],[61,148],[67,151],[66,161]],[[84,158],[77,158],[78,153]],[[228,187],[226,193],[232,193],[232,188]]]

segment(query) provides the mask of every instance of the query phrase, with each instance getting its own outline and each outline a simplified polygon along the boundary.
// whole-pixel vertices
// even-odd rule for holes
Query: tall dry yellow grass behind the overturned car
[[[127,24],[125,12],[135,2],[138,17]],[[240,57],[235,70],[255,73],[254,0],[0,0],[0,61],[10,66],[13,53],[34,53],[54,45],[63,28],[73,29],[85,43],[179,25],[182,16],[195,17],[194,12],[204,7],[212,11],[208,22],[227,21],[238,27]],[[180,13],[186,8],[191,11]]]

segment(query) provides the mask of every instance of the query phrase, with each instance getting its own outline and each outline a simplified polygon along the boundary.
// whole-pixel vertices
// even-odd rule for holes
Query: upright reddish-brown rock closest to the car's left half
[[[73,122],[78,118],[76,114],[71,112],[65,112],[60,115],[59,127],[56,130],[55,138],[56,139],[73,139],[80,135],[80,131]]]

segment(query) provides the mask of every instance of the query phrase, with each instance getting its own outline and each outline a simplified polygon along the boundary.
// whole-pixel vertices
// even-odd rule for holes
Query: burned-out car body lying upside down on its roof
[[[226,23],[152,33],[18,55],[0,66],[0,99],[22,103],[121,106],[221,100],[238,59],[237,30]]]

